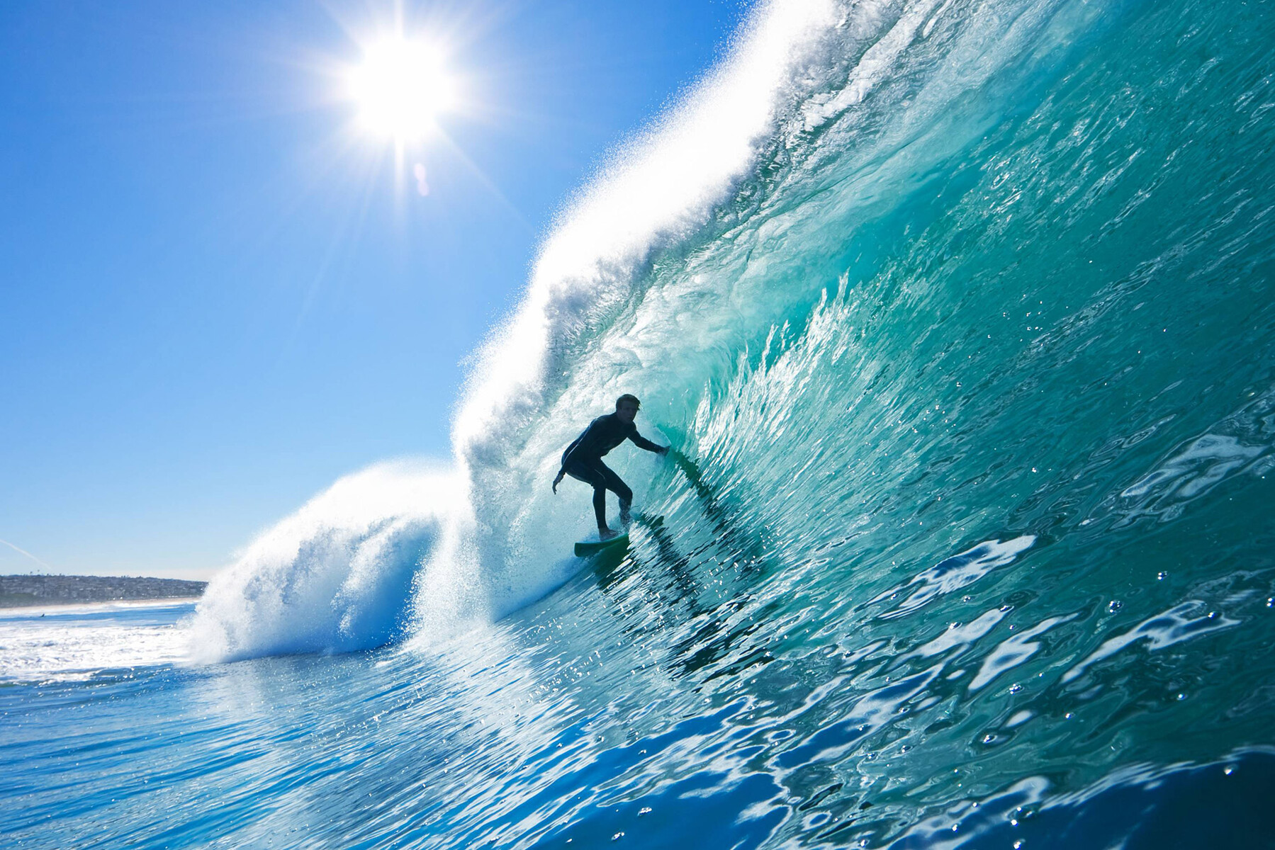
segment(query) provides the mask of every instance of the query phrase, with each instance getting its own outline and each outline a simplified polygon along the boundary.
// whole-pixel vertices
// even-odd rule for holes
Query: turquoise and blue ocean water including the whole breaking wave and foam
[[[1275,846],[1272,37],[759,9],[548,238],[454,461],[97,622],[181,658],[0,628],[6,844]],[[663,520],[580,562],[548,483],[621,391],[680,454],[615,452]]]

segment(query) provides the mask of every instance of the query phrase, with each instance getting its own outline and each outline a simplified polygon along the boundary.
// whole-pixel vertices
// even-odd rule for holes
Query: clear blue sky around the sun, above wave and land
[[[0,4],[0,573],[204,577],[346,473],[449,456],[555,214],[745,8],[400,11],[456,94],[397,144],[348,83],[391,3]]]

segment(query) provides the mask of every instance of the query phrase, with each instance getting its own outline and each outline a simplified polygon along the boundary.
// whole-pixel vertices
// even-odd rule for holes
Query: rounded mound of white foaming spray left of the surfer
[[[462,487],[421,461],[339,479],[213,577],[191,622],[191,656],[343,652],[395,640],[423,559],[456,526]]]

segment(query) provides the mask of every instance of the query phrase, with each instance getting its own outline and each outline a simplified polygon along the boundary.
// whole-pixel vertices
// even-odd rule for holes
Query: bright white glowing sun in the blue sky
[[[360,125],[398,144],[430,135],[439,116],[456,104],[442,51],[403,37],[367,45],[362,64],[347,74],[347,87]]]

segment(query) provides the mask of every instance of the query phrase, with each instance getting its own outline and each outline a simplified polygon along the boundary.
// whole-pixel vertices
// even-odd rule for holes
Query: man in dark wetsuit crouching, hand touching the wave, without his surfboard
[[[602,463],[602,456],[622,443],[632,440],[639,449],[654,451],[658,455],[667,455],[668,446],[657,446],[638,433],[634,418],[641,403],[635,395],[621,395],[616,399],[616,412],[598,417],[589,423],[589,427],[575,438],[566,451],[562,452],[562,468],[558,469],[557,478],[553,479],[553,492],[564,475],[570,475],[576,480],[583,480],[593,487],[593,512],[598,517],[598,537],[606,540],[616,537],[607,525],[607,491],[620,497],[620,521],[629,524],[629,508],[634,501],[634,492],[629,489],[620,475]]]

